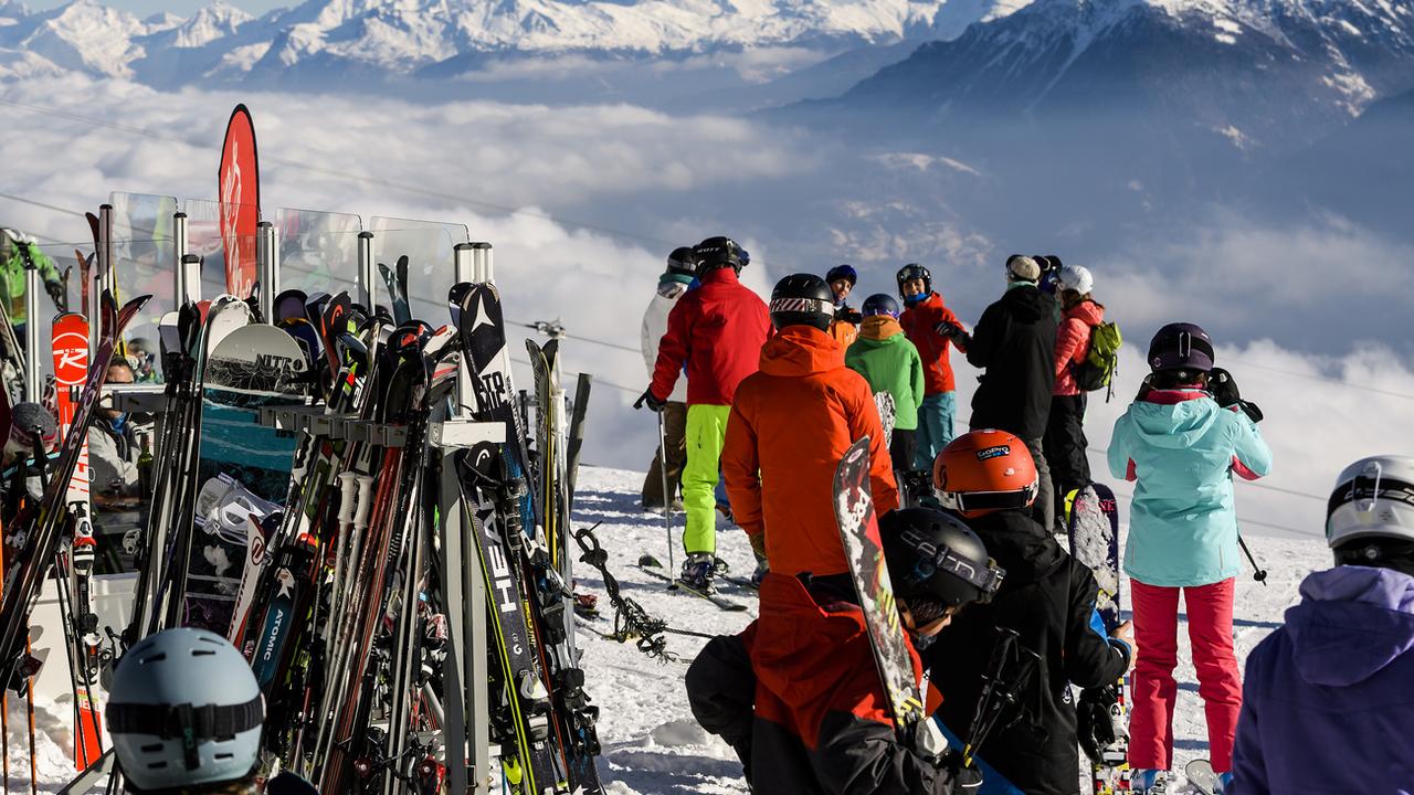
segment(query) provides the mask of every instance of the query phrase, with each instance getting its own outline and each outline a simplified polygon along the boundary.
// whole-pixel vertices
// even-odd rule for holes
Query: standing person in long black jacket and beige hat
[[[1007,293],[987,307],[970,338],[967,361],[986,371],[973,395],[970,427],[1008,430],[1027,444],[1036,465],[1039,494],[1034,513],[1045,529],[1055,526],[1051,470],[1041,451],[1055,388],[1055,298],[1036,287],[1041,266],[1028,256],[1007,260]]]

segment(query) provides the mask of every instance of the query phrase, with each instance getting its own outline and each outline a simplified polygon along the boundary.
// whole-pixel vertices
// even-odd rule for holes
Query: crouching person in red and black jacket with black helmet
[[[918,682],[915,648],[969,604],[991,598],[1003,573],[981,540],[940,511],[885,513],[880,539]],[[687,669],[693,716],[737,751],[752,792],[977,791],[981,774],[957,750],[937,753],[932,721],[918,724],[915,741],[899,741],[848,574],[771,571],[761,603],[761,618],[708,641]]]

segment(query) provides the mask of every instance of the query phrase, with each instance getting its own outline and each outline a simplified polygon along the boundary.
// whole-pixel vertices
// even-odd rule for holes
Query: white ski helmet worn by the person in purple
[[[1359,539],[1414,543],[1414,457],[1372,455],[1340,472],[1326,504],[1326,545]]]

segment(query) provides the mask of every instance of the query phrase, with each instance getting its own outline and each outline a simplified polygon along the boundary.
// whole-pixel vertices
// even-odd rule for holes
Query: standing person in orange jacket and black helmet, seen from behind
[[[834,521],[834,468],[864,436],[875,511],[898,508],[874,393],[844,366],[844,349],[826,331],[833,317],[830,286],[819,276],[776,283],[776,335],[761,351],[761,372],[737,388],[727,423],[721,468],[732,512],[758,559],[778,574],[850,570]]]

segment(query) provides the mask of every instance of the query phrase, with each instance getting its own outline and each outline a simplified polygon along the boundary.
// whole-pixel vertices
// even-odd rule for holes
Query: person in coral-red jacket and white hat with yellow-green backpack
[[[1051,389],[1051,416],[1042,437],[1051,481],[1055,484],[1056,518],[1065,516],[1065,498],[1090,482],[1090,461],[1085,448],[1085,392],[1070,369],[1090,352],[1090,328],[1104,323],[1104,304],[1090,297],[1094,277],[1087,267],[1068,265],[1056,279],[1063,315],[1056,330],[1056,385]]]

